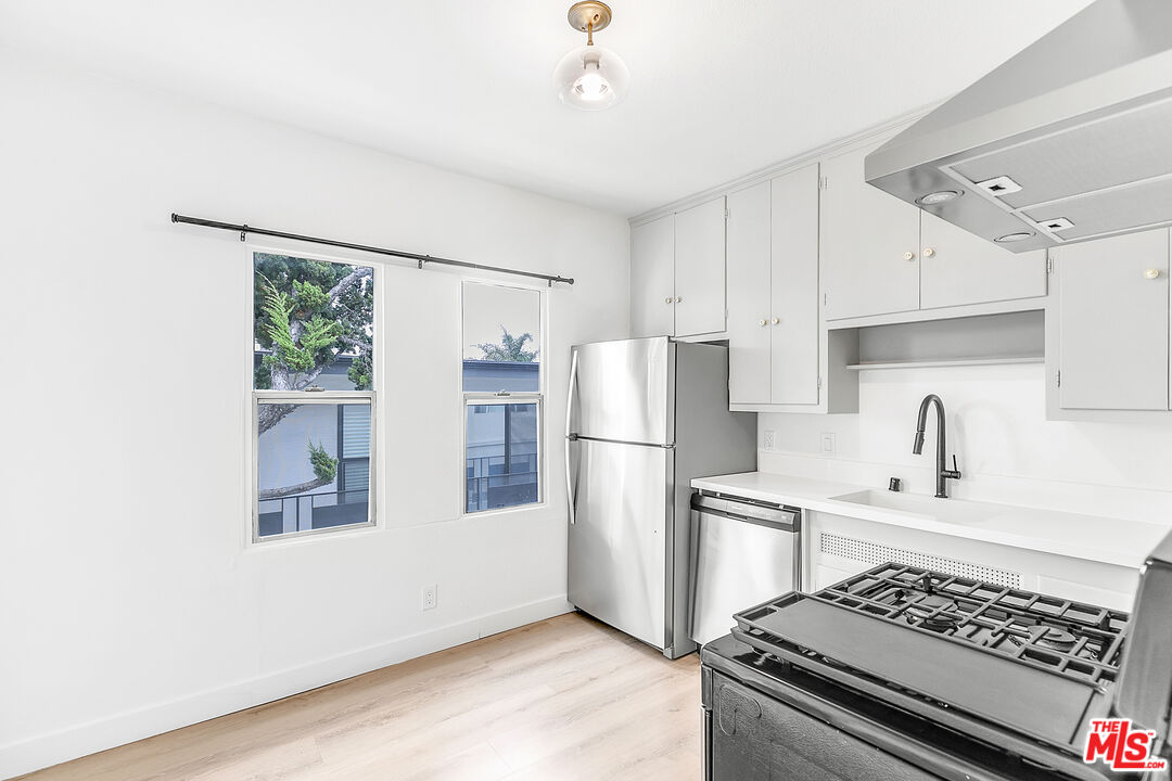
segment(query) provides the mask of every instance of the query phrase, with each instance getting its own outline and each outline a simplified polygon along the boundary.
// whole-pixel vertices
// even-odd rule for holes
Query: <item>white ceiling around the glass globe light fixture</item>
[[[0,0],[0,44],[633,215],[966,87],[1089,0],[612,0],[632,74],[550,83],[570,0]]]

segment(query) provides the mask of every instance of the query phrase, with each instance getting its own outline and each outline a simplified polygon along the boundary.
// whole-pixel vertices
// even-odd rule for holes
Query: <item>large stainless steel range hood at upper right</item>
[[[1172,0],[1096,0],[865,171],[1014,252],[1172,225]]]

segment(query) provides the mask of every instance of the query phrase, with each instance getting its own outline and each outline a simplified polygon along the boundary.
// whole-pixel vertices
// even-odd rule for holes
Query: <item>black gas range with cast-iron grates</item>
[[[1119,714],[1129,618],[893,563],[779,596],[701,651],[706,779],[1143,777],[1083,761]],[[1137,724],[1166,717],[1167,691]]]

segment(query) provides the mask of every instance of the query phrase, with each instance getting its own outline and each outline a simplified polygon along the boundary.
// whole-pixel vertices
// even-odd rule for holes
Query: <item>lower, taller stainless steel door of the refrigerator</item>
[[[667,523],[673,513],[667,447],[570,443],[570,602],[662,649]]]

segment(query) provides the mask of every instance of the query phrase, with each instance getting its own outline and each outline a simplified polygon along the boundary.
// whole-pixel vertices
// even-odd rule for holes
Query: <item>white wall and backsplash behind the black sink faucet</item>
[[[953,496],[1049,507],[1105,518],[1172,525],[1172,420],[1070,423],[1045,420],[1042,364],[867,370],[859,413],[762,415],[778,452],[759,453],[762,471],[932,494],[935,420],[922,455],[912,454],[920,399],[936,393],[947,412],[949,464],[962,480]],[[836,453],[822,453],[823,432]],[[1104,529],[1109,534],[1109,529]]]

